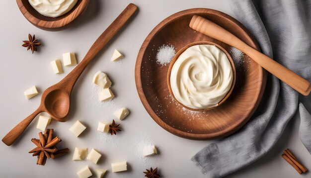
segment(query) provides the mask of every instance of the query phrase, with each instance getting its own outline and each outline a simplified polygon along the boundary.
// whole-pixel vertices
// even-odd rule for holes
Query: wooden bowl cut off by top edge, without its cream
[[[47,31],[60,31],[68,28],[85,12],[89,0],[78,0],[76,5],[64,15],[47,17],[36,11],[28,0],[16,0],[21,13],[38,28]]]

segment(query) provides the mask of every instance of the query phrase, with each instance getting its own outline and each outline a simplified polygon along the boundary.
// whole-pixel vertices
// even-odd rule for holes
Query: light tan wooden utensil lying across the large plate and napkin
[[[205,35],[215,38],[219,41],[227,43],[253,59],[257,64],[266,69],[268,72],[279,78],[281,81],[296,89],[301,94],[307,96],[311,91],[311,84],[306,79],[302,78],[295,72],[282,66],[268,56],[260,53],[259,51],[251,48],[246,43],[238,39],[232,33],[217,25],[216,23],[194,15],[189,24],[190,28],[199,31]]]

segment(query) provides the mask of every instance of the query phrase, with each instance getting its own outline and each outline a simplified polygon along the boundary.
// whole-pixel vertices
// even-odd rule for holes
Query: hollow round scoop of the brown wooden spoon
[[[64,122],[70,106],[70,94],[62,89],[49,92],[44,99],[44,107],[54,119]]]

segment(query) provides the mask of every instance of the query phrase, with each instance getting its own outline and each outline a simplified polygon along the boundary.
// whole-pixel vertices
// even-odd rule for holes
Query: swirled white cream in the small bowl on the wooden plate
[[[227,55],[214,45],[194,45],[174,63],[170,87],[174,97],[193,109],[217,106],[233,82],[232,65]]]

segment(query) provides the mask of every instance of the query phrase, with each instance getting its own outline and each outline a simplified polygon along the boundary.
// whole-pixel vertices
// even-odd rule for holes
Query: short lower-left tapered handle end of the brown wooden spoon
[[[40,107],[35,110],[32,114],[26,117],[24,120],[19,122],[10,132],[8,132],[3,138],[2,142],[5,145],[10,146],[15,140],[24,132],[24,130],[28,127],[31,121],[41,112]]]

